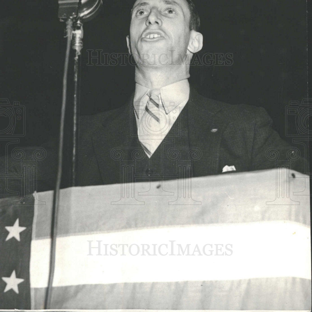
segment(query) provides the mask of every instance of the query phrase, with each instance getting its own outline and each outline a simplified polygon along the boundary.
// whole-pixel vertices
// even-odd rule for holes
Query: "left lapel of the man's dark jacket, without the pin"
[[[133,96],[93,133],[93,149],[104,184],[120,183],[120,163],[128,159],[132,144],[132,113]]]

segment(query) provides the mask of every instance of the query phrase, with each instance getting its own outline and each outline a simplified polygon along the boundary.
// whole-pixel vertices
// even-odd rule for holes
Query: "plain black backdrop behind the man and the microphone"
[[[123,105],[134,90],[133,66],[87,66],[88,49],[128,52],[125,37],[133,2],[103,2],[101,13],[84,25],[84,115]],[[285,107],[290,100],[301,102],[307,97],[306,2],[194,2],[201,16],[203,51],[233,53],[234,62],[192,66],[190,82],[207,97],[264,107],[274,128],[290,140],[285,137]],[[26,135],[20,146],[38,146],[58,134],[64,27],[58,20],[57,0],[0,3],[0,98],[26,107]],[[5,122],[0,116],[0,130]]]

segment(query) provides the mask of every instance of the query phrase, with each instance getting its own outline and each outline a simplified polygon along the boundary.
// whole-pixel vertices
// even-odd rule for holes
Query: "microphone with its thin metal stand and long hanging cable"
[[[63,75],[63,94],[62,94],[62,109],[60,121],[60,136],[58,148],[58,170],[56,185],[53,193],[53,206],[51,218],[51,246],[49,259],[49,278],[44,300],[44,308],[50,309],[52,301],[53,277],[55,271],[55,252],[56,240],[58,236],[58,208],[59,196],[62,180],[62,165],[63,165],[63,146],[64,146],[64,125],[67,100],[67,79],[68,65],[70,58],[70,44],[75,51],[74,56],[74,90],[73,90],[73,137],[72,137],[72,153],[71,153],[71,177],[70,184],[75,186],[77,172],[77,152],[78,152],[78,135],[79,135],[79,110],[80,110],[80,65],[81,65],[81,50],[83,48],[83,23],[89,21],[98,14],[103,4],[102,0],[58,0],[59,10],[58,17],[61,21],[66,21],[66,54],[64,62]]]

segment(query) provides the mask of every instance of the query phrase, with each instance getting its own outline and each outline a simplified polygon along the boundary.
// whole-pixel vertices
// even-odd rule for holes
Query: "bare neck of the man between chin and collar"
[[[166,85],[188,79],[189,70],[184,68],[148,68],[135,69],[135,82],[148,89],[160,89]]]

